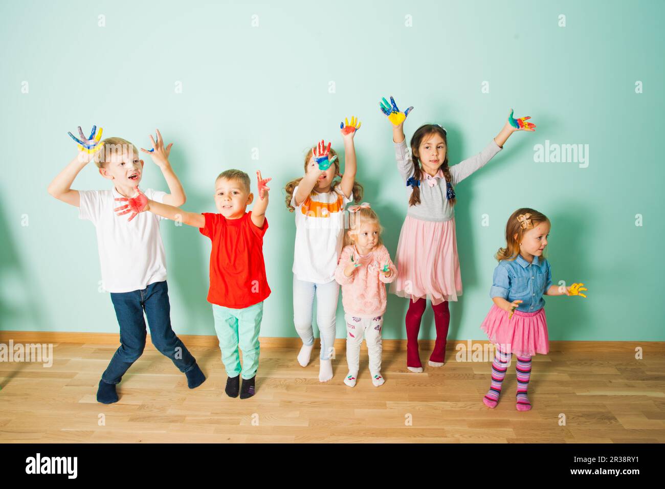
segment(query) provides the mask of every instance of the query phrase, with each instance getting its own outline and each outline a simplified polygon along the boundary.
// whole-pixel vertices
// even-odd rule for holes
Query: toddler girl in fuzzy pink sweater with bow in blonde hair
[[[381,325],[386,311],[386,286],[397,277],[388,249],[381,241],[383,228],[370,204],[348,208],[349,230],[334,277],[342,285],[342,304],[346,319],[346,361],[344,383],[356,385],[362,334],[370,357],[372,384],[384,383],[381,377]]]

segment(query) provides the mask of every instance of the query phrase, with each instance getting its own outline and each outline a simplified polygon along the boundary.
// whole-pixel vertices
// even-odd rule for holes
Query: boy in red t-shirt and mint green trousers
[[[148,200],[143,194],[123,199],[127,205],[118,208],[118,212],[126,208],[149,210],[180,220],[196,226],[212,240],[207,300],[212,304],[221,361],[229,376],[225,392],[229,397],[237,397],[240,392],[240,399],[254,395],[263,301],[270,295],[263,263],[263,235],[268,229],[265,210],[270,189],[266,184],[271,179],[264,180],[257,172],[257,180],[259,200],[249,212],[245,210],[254,196],[249,192],[249,176],[241,170],[226,170],[217,176],[215,206],[219,214],[185,212]],[[242,367],[238,347],[243,351]]]

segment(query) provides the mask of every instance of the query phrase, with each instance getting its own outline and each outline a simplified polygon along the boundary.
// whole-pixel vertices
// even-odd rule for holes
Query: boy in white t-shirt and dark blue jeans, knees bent
[[[146,346],[146,323],[150,327],[150,339],[163,355],[185,373],[190,389],[205,381],[196,359],[180,341],[171,327],[168,287],[166,285],[166,259],[160,235],[162,218],[151,212],[130,216],[116,216],[116,198],[133,197],[143,174],[143,160],[138,157],[134,144],[122,138],[100,140],[94,138],[95,128],[86,139],[79,128],[81,139],[79,154],[49,185],[49,194],[58,200],[79,208],[79,218],[92,221],[96,228],[99,259],[102,270],[102,286],[111,295],[120,325],[120,347],[102,374],[97,391],[97,401],[116,403],[116,385],[122,375],[143,353]],[[186,197],[180,180],[171,168],[168,155],[172,144],[164,148],[159,130],[157,141],[152,136],[152,160],[162,170],[170,194],[147,189],[145,194],[156,202],[172,206],[184,204]],[[99,174],[110,180],[111,190],[73,190],[70,188],[78,172],[91,160],[98,166]]]

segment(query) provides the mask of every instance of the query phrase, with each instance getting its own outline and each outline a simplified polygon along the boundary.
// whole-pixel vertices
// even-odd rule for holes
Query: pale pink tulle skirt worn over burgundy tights
[[[462,295],[462,274],[455,237],[455,218],[446,222],[406,216],[396,254],[397,278],[390,293],[437,305]]]

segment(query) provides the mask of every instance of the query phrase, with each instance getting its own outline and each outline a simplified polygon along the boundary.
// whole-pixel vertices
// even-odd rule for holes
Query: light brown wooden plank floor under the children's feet
[[[319,383],[318,358],[303,369],[297,349],[262,346],[257,394],[246,400],[224,395],[218,348],[190,348],[207,377],[194,390],[146,348],[120,402],[101,405],[97,383],[117,344],[59,343],[50,368],[0,363],[0,442],[665,442],[663,344],[642,343],[641,360],[633,342],[579,345],[553,342],[534,357],[533,409],[518,412],[514,361],[490,410],[481,403],[490,362],[458,362],[449,350],[444,367],[415,374],[389,348],[386,383],[372,386],[363,349],[351,389],[344,355],[334,379]]]

